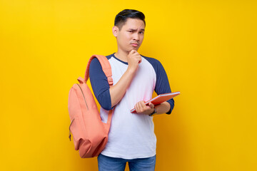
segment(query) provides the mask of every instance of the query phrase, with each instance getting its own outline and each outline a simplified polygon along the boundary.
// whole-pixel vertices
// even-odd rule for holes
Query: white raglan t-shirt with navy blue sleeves
[[[111,64],[114,85],[128,68],[128,63],[119,60],[114,53],[106,56]],[[111,96],[109,83],[101,68],[101,64],[94,58],[89,68],[89,78],[96,99],[101,105],[100,115],[102,122],[106,123],[109,110],[111,110]],[[138,70],[127,88],[124,97],[116,104],[111,119],[111,128],[106,147],[101,152],[109,157],[135,159],[153,157],[156,155],[156,135],[154,134],[153,117],[131,113],[130,110],[138,101],[148,101],[152,98],[153,90],[157,95],[171,93],[168,77],[161,63],[155,58],[142,56]],[[168,100],[171,113],[174,100]]]

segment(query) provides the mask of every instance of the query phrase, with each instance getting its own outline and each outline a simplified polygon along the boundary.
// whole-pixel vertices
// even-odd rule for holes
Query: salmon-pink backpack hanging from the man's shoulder
[[[94,55],[86,66],[85,78],[78,78],[69,91],[68,109],[71,118],[69,138],[73,135],[75,150],[79,150],[81,158],[96,157],[100,154],[108,140],[113,110],[109,111],[107,123],[101,121],[94,96],[86,85],[89,79],[89,66],[93,58],[98,58],[109,85],[113,85],[111,66],[106,56]]]

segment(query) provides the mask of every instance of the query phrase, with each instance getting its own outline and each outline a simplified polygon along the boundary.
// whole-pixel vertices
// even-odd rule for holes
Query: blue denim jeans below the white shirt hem
[[[156,165],[156,155],[148,158],[126,160],[100,154],[97,160],[99,171],[124,171],[126,162],[129,162],[130,171],[154,171]]]

